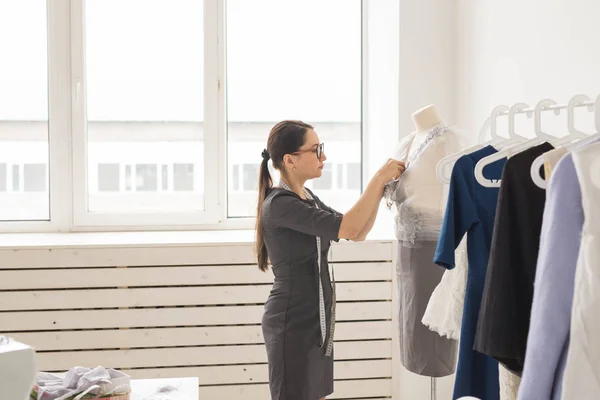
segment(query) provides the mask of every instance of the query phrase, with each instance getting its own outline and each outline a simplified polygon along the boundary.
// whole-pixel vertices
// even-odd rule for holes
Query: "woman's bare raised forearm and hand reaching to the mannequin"
[[[403,172],[404,163],[397,160],[388,160],[377,171],[356,204],[344,214],[338,235],[340,239],[358,240],[361,234],[366,236],[369,233],[377,216],[385,184]]]

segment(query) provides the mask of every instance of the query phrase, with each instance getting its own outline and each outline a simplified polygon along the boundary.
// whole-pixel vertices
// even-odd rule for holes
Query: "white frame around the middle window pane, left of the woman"
[[[204,210],[203,211],[151,211],[91,212],[88,210],[87,187],[87,118],[85,76],[85,0],[71,2],[71,87],[73,91],[73,228],[128,227],[129,229],[156,227],[160,229],[198,228],[222,221],[219,201],[218,174],[221,162],[218,147],[219,115],[222,108],[219,82],[220,58],[223,57],[219,41],[220,8],[223,3],[206,0],[204,7]],[[220,48],[221,47],[221,48]]]

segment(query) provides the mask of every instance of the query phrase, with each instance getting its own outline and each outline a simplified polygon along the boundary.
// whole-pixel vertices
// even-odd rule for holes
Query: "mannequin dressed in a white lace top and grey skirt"
[[[455,340],[421,323],[444,273],[433,263],[448,196],[436,165],[465,143],[433,104],[415,111],[412,119],[416,129],[400,141],[393,157],[406,162],[406,171],[385,192],[388,206],[396,208],[400,361],[413,373],[436,378],[453,374],[457,357]]]

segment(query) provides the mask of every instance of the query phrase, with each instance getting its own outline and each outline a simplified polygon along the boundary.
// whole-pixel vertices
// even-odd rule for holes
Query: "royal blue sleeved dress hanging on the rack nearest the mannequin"
[[[453,399],[462,396],[485,400],[500,398],[498,362],[473,350],[499,193],[498,188],[481,186],[475,180],[474,170],[477,161],[496,152],[487,146],[456,161],[435,252],[436,264],[454,268],[454,250],[467,234],[469,268]],[[506,159],[502,159],[487,166],[484,176],[500,179],[505,162]]]

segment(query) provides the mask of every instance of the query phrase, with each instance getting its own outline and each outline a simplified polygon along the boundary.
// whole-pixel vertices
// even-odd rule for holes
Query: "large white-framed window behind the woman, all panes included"
[[[0,0],[0,231],[250,229],[283,119],[315,127],[328,159],[307,187],[348,210],[398,139],[399,13]]]

